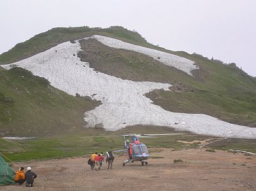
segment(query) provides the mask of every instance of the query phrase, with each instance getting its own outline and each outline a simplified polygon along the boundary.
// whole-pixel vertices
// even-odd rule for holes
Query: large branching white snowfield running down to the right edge
[[[70,95],[79,93],[102,101],[102,105],[87,111],[87,126],[102,123],[111,131],[135,124],[169,126],[221,137],[256,138],[256,128],[226,123],[205,114],[173,113],[152,104],[144,95],[153,89],[169,90],[167,83],[133,82],[95,72],[86,62],[73,56],[81,50],[76,41],[64,42],[16,63],[34,75],[44,77],[51,85]],[[10,65],[2,65],[9,69]],[[92,96],[94,95],[94,96]]]

